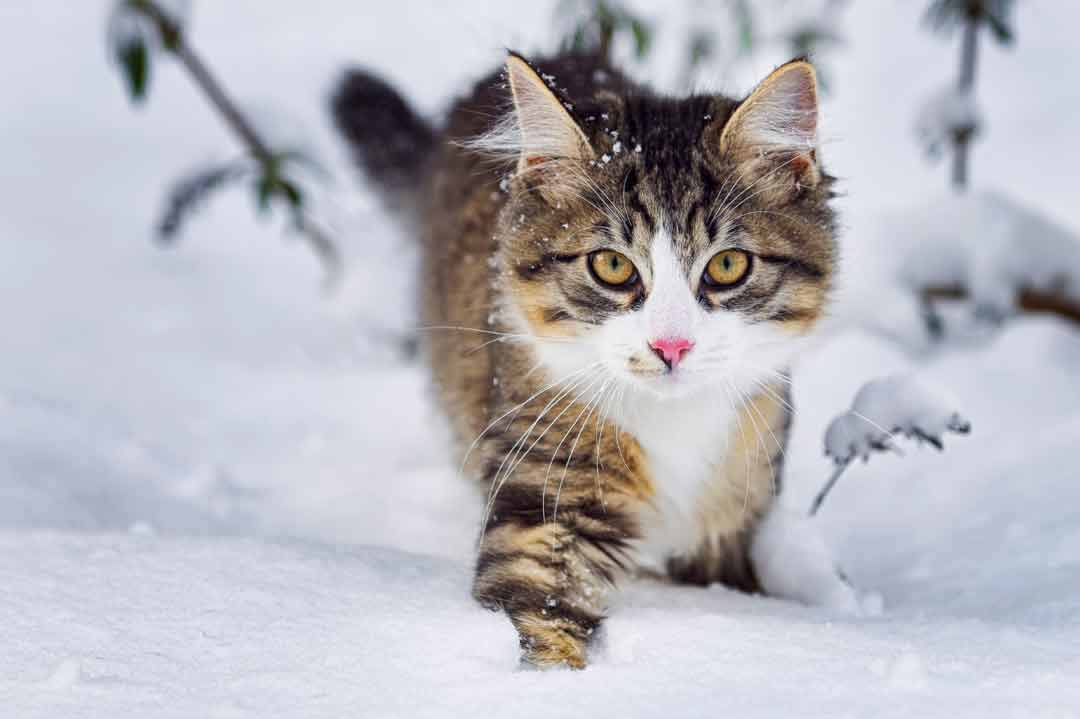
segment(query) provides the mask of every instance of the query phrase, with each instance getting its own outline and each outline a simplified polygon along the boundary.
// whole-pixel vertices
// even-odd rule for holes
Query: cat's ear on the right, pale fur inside
[[[721,154],[744,179],[770,175],[770,185],[812,187],[818,165],[818,76],[804,59],[773,70],[724,125]]]

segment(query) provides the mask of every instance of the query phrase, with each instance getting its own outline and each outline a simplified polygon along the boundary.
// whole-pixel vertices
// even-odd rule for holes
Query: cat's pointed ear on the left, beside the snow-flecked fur
[[[507,74],[514,96],[519,155],[517,172],[564,160],[590,160],[585,133],[536,70],[519,55],[507,58]]]

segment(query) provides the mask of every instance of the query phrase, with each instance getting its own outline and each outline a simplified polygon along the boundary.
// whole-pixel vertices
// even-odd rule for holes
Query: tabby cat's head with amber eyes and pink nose
[[[836,261],[813,67],[741,103],[570,97],[512,55],[503,313],[552,381],[599,368],[658,397],[752,392],[822,316]],[[501,135],[500,135],[501,133]]]

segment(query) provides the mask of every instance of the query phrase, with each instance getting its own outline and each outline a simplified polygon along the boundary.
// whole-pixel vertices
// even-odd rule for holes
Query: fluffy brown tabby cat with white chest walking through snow
[[[760,591],[788,368],[837,261],[812,65],[739,101],[511,53],[437,128],[360,70],[332,105],[422,241],[424,351],[487,497],[473,595],[523,661],[584,667],[635,573]]]

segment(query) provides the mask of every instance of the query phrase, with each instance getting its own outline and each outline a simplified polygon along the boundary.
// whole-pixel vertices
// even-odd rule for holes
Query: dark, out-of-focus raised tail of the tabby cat
[[[435,132],[401,94],[364,70],[345,72],[330,100],[352,160],[389,207],[414,215]]]

